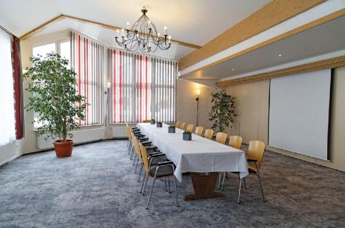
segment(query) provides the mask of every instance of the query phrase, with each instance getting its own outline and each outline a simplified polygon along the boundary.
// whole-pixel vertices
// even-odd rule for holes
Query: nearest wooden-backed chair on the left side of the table
[[[150,204],[150,199],[151,199],[151,196],[152,196],[153,187],[155,187],[155,180],[157,178],[159,178],[159,179],[166,179],[166,178],[170,178],[170,177],[172,177],[174,179],[175,198],[176,198],[177,207],[179,207],[179,200],[177,199],[176,178],[174,176],[174,172],[175,172],[174,163],[172,163],[172,161],[164,161],[164,162],[161,162],[161,163],[157,163],[157,165],[151,165],[149,163],[149,160],[148,160],[148,153],[147,153],[146,148],[142,144],[139,144],[139,147],[140,147],[140,150],[141,150],[141,156],[142,156],[142,159],[143,159],[144,169],[145,169],[144,181],[141,184],[141,189],[140,189],[140,192],[142,191],[143,195],[145,194],[145,189],[146,189],[146,185],[148,183],[148,178],[152,178],[153,179],[152,189],[150,191],[150,196],[148,196],[148,203],[146,205],[146,209],[148,209],[148,205]],[[143,190],[143,187],[144,187],[144,190]],[[169,188],[170,188],[170,180],[169,180]]]

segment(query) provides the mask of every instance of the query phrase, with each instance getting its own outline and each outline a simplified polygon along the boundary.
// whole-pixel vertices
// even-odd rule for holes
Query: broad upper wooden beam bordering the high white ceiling
[[[199,61],[207,59],[237,43],[254,37],[273,26],[282,23],[297,14],[323,3],[325,0],[273,0],[257,10],[215,39],[210,40],[200,49],[179,60],[179,70],[184,70]]]

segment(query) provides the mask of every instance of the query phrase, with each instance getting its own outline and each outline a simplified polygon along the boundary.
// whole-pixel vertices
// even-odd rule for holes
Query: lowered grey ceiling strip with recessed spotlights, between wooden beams
[[[217,81],[224,78],[232,79],[239,74],[308,59],[337,50],[345,50],[345,16],[182,77],[185,79],[217,79]]]

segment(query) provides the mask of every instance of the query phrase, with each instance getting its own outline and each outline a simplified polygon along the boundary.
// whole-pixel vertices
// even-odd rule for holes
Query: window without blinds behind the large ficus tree
[[[60,54],[70,62],[70,40],[64,39],[62,41],[56,41],[54,43],[34,45],[34,47],[32,48],[32,56],[37,56],[37,54],[39,54],[42,56],[42,58],[44,58],[46,54],[51,52]],[[70,63],[68,65],[70,67]],[[37,129],[38,127],[41,127],[43,125],[43,123],[37,123],[37,118],[38,114],[34,113],[34,129]]]

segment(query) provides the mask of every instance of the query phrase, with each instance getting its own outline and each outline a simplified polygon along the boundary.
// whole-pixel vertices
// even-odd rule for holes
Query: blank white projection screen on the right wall
[[[331,69],[270,79],[268,144],[327,160]]]

